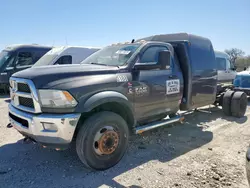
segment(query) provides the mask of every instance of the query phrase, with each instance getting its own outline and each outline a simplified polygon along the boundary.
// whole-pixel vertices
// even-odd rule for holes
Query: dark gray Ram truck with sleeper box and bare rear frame
[[[85,167],[105,170],[121,160],[130,133],[183,121],[178,110],[217,102],[226,115],[244,116],[246,94],[218,94],[217,83],[209,39],[154,35],[107,46],[81,65],[15,73],[9,119],[44,146],[65,148],[76,141]]]

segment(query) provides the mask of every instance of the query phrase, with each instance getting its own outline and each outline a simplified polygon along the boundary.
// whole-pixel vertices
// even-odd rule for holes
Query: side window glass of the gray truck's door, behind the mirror
[[[152,46],[146,49],[143,53],[140,63],[157,63],[159,52],[167,50],[167,47],[164,46]]]

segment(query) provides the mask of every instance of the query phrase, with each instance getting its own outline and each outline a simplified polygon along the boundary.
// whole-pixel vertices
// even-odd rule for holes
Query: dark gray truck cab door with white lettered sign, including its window
[[[167,46],[150,45],[142,51],[137,63],[156,63],[159,52],[163,50],[168,50]],[[174,73],[172,65],[165,69],[136,72],[132,87],[137,120],[170,113],[179,108],[180,85],[181,80]]]

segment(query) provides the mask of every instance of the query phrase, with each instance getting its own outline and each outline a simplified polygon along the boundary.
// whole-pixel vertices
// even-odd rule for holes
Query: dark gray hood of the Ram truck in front
[[[25,69],[13,74],[12,77],[32,80],[37,87],[40,87],[57,80],[73,80],[87,75],[115,74],[118,71],[118,67],[92,64],[51,65]]]

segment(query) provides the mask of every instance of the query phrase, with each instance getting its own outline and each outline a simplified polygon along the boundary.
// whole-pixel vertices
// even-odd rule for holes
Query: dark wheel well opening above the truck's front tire
[[[101,111],[110,111],[110,112],[119,114],[127,122],[129,129],[130,130],[133,129],[134,116],[131,110],[129,109],[129,107],[118,102],[107,102],[107,103],[104,103],[95,107],[90,112],[82,113],[81,118],[76,127],[74,137],[76,137],[81,125],[88,117],[90,117],[94,113],[101,112]]]

